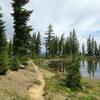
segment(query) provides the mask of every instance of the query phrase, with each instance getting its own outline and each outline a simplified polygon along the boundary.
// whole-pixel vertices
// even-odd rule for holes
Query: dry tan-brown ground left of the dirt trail
[[[36,72],[32,64],[17,72],[9,70],[7,75],[0,76],[0,100],[23,100],[35,80]]]

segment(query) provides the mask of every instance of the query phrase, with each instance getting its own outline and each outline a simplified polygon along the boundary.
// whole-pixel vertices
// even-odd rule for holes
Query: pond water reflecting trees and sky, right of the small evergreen
[[[81,61],[81,74],[84,77],[100,79],[100,61],[83,60]]]

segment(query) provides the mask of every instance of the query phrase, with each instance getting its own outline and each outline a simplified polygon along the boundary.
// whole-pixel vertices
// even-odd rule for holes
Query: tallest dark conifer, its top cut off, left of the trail
[[[32,11],[28,11],[23,6],[27,4],[29,0],[13,0],[13,18],[14,18],[14,38],[13,38],[13,48],[14,55],[22,58],[28,56],[30,52],[30,42],[31,36],[30,31],[32,31],[31,26],[27,26],[27,21],[29,20]]]

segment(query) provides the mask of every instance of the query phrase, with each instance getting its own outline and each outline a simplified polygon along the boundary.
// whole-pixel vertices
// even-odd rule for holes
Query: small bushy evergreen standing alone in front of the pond
[[[66,67],[66,85],[72,90],[81,88],[80,57],[73,56],[71,63]]]

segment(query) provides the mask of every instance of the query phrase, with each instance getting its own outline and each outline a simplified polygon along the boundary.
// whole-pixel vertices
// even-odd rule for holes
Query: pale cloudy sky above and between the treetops
[[[0,6],[9,39],[13,36],[11,0],[0,0]],[[74,28],[80,43],[85,42],[89,34],[100,43],[100,0],[30,0],[25,7],[34,10],[29,22],[34,31],[44,35],[51,23],[59,36],[63,33],[67,36]]]

